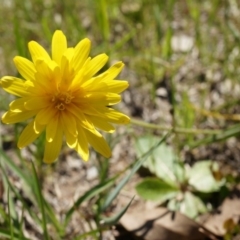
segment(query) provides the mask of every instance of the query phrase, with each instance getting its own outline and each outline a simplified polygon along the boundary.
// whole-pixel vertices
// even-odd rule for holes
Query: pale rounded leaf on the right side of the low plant
[[[195,190],[204,193],[218,191],[225,180],[217,181],[211,171],[212,161],[201,161],[193,165],[189,171],[189,185]],[[215,163],[217,164],[217,163]]]

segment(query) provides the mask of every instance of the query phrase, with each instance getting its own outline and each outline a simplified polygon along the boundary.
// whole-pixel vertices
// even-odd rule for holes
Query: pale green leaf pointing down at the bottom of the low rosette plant
[[[199,197],[193,195],[191,192],[185,192],[184,199],[180,204],[180,212],[190,218],[195,218],[199,213],[206,211],[207,208]]]

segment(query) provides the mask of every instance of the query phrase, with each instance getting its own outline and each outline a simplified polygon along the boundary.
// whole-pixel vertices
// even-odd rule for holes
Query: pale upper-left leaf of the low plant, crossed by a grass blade
[[[135,148],[137,156],[141,156],[143,152],[148,151],[156,142],[157,137],[149,135],[143,136],[136,140]],[[176,168],[176,156],[171,147],[162,143],[143,163],[150,172],[157,177],[164,179],[165,182],[175,186],[177,178],[174,174]]]

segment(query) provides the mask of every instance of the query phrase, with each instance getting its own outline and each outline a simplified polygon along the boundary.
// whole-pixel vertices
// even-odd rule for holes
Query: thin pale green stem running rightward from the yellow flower
[[[134,125],[138,125],[140,127],[145,128],[152,128],[152,129],[158,129],[158,130],[165,130],[165,131],[172,131],[174,133],[182,133],[182,134],[208,134],[208,135],[215,135],[222,132],[221,129],[191,129],[191,128],[178,128],[178,127],[167,127],[162,125],[157,125],[153,123],[147,123],[141,120],[137,119],[131,119],[131,123]]]

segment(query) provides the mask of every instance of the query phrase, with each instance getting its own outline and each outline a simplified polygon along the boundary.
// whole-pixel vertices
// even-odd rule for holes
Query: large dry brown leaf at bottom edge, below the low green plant
[[[121,224],[144,240],[206,240],[216,239],[203,232],[200,225],[178,212],[166,208],[126,213]]]

